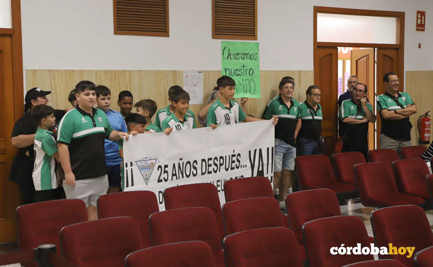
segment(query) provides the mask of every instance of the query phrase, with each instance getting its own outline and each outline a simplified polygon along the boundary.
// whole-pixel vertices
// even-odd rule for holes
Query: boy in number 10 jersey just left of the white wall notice
[[[188,92],[184,90],[176,91],[171,100],[174,112],[162,121],[161,130],[166,134],[170,134],[173,130],[180,131],[196,128],[194,114],[188,113],[190,100]]]

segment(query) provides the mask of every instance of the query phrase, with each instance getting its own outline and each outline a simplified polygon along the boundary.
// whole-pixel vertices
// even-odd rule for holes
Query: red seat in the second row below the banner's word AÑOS
[[[206,207],[166,210],[150,216],[152,245],[204,241],[212,249],[216,267],[224,267],[224,255],[214,212]]]

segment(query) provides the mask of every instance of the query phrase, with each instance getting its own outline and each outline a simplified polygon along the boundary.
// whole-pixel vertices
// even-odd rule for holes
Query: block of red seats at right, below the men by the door
[[[391,153],[395,153],[397,160],[393,161],[395,158],[387,156]],[[364,206],[415,204],[424,208],[431,207],[426,183],[430,171],[424,160],[398,160],[395,150],[370,150],[369,155],[371,160],[378,162],[366,163],[360,152],[334,154],[332,159],[340,182],[335,178],[326,156],[297,157],[295,162],[300,187],[304,190],[329,188],[339,200],[360,196]]]

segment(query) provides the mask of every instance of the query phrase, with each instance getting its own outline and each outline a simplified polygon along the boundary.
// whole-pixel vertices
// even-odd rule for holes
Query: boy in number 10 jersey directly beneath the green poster
[[[218,100],[209,108],[207,113],[207,126],[235,124],[241,121],[259,121],[262,119],[254,118],[245,114],[239,103],[233,100],[235,96],[235,80],[229,76],[222,76],[216,80],[220,96]],[[278,123],[278,117],[271,118],[274,125]]]

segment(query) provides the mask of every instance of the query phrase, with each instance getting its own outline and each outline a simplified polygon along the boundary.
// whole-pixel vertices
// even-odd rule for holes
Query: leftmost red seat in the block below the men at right
[[[295,158],[299,185],[302,190],[328,188],[337,198],[357,197],[357,188],[352,184],[343,184],[335,180],[329,158],[325,155],[308,155]]]

